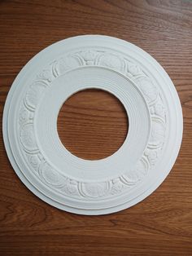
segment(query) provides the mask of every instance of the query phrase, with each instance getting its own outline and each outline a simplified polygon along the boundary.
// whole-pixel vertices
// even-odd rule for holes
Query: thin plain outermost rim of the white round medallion
[[[89,38],[89,37],[99,37],[99,38],[113,38],[113,37],[108,37],[108,36],[100,36],[100,35],[82,35],[82,36],[77,36],[77,37],[72,37],[72,38]],[[65,40],[70,40],[72,38],[67,38]],[[164,177],[161,179],[156,180],[156,182],[153,184],[153,186],[151,186],[151,188],[148,188],[146,190],[146,192],[142,193],[142,195],[137,196],[137,198],[135,198],[132,202],[128,202],[125,203],[123,205],[118,205],[116,207],[111,207],[111,208],[107,208],[107,209],[102,209],[102,210],[81,210],[81,209],[76,209],[67,205],[60,205],[59,203],[57,203],[56,201],[50,200],[50,198],[46,197],[45,195],[43,195],[41,192],[39,192],[36,188],[34,188],[31,183],[28,182],[28,180],[24,177],[24,175],[21,173],[19,167],[17,166],[14,157],[12,156],[11,153],[11,148],[9,146],[9,139],[7,137],[7,112],[10,106],[10,102],[11,102],[11,98],[12,95],[14,94],[15,91],[15,84],[16,82],[19,80],[21,73],[24,72],[24,69],[27,68],[28,64],[30,64],[30,62],[33,61],[33,59],[36,57],[33,56],[33,58],[31,60],[28,61],[27,64],[24,65],[24,68],[21,69],[20,73],[17,75],[17,77],[15,78],[15,81],[13,82],[11,89],[9,90],[9,93],[7,95],[7,99],[6,99],[6,103],[3,109],[3,116],[2,116],[2,135],[3,135],[3,141],[5,144],[5,148],[7,151],[7,157],[9,158],[10,162],[11,162],[11,166],[13,167],[13,169],[15,170],[15,173],[19,176],[20,180],[24,183],[24,185],[31,191],[33,192],[33,194],[35,194],[36,196],[38,196],[42,201],[46,201],[46,203],[53,205],[57,208],[59,208],[60,210],[66,210],[68,212],[71,212],[73,214],[85,214],[85,215],[99,215],[99,214],[112,214],[115,213],[117,211],[120,210],[124,210],[126,208],[129,208],[133,205],[136,205],[138,202],[144,200],[147,196],[150,196],[152,192],[154,192],[157,188],[159,188],[159,185],[161,183],[164,182],[164,179],[166,179],[166,177],[168,176],[169,172],[172,170],[172,166],[174,165],[176,159],[177,159],[177,155],[180,151],[181,148],[181,139],[182,139],[182,133],[183,133],[183,117],[182,117],[182,110],[181,110],[181,104],[180,104],[180,100],[179,97],[177,95],[177,90],[175,88],[175,86],[172,83],[172,80],[170,79],[170,77],[168,77],[168,73],[165,72],[164,68],[151,56],[149,55],[146,51],[143,51],[140,47],[133,45],[130,42],[126,42],[122,39],[119,38],[113,38],[115,40],[117,40],[118,42],[122,42],[123,44],[129,44],[129,46],[132,46],[133,48],[142,51],[142,54],[146,55],[146,59],[148,61],[150,61],[151,63],[153,62],[159,69],[161,69],[161,73],[164,75],[164,78],[166,78],[166,80],[168,81],[169,85],[172,85],[172,93],[175,94],[175,104],[177,105],[177,108],[179,109],[179,111],[177,112],[177,125],[179,125],[179,129],[177,129],[177,148],[174,148],[174,151],[172,151],[172,157],[170,157],[170,161],[168,162],[167,168],[166,168],[166,172],[164,174]],[[40,51],[41,54],[44,54],[44,52],[46,52],[47,50],[49,50],[49,48],[55,44],[59,44],[61,43],[63,40],[59,41],[59,42],[55,42],[54,44],[46,47],[44,50]],[[39,53],[37,53],[39,54]]]

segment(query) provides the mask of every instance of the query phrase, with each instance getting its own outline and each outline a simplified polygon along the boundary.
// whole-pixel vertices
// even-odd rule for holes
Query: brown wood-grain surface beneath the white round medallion
[[[133,42],[163,65],[181,99],[184,116],[181,152],[168,178],[145,201],[116,214],[81,216],[47,205],[24,187],[7,159],[1,124],[0,254],[191,255],[191,1],[0,1],[0,120],[2,122],[7,92],[24,64],[51,43],[86,33],[107,34]],[[103,121],[103,126],[111,126],[107,133],[113,139],[111,144],[107,141],[108,149],[101,147],[103,136],[99,135],[102,126],[97,126],[97,120],[103,120],[97,110],[99,94],[89,92],[91,97],[86,93],[76,96],[76,100],[71,100],[65,109],[66,116],[61,114],[59,117],[59,130],[64,118],[68,121],[68,129],[74,131],[69,132],[66,128],[68,147],[76,150],[76,154],[81,153],[81,157],[105,157],[124,138],[124,110],[116,99],[102,94],[103,102],[114,102],[114,117],[120,118],[124,128],[118,135],[116,128],[120,127],[114,126],[113,116],[108,122]],[[87,105],[78,109],[78,103],[84,97]],[[94,100],[94,107],[89,98]],[[75,114],[68,111],[70,106]],[[84,112],[82,108],[85,108]],[[87,111],[98,115],[93,124],[96,128],[89,129],[89,133],[98,136],[101,142],[98,147],[90,148],[91,156],[86,152],[87,145],[85,147],[82,143],[82,136],[75,145],[72,144],[73,136],[78,132],[72,120],[78,122],[80,115],[86,116]],[[107,115],[108,111],[103,108],[103,114]],[[78,149],[79,143],[81,149]]]

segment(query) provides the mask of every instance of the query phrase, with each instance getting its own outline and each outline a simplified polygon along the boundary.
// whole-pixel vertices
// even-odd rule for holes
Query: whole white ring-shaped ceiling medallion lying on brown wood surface
[[[116,95],[129,116],[121,148],[102,160],[64,148],[57,117],[79,90]],[[149,196],[164,181],[181,145],[182,113],[168,74],[129,42],[98,35],[57,42],[16,77],[3,113],[7,155],[43,201],[76,214],[110,214]]]

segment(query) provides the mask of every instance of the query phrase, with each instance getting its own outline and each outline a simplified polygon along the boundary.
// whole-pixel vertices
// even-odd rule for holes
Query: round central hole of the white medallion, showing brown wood
[[[98,160],[111,156],[124,143],[129,119],[116,96],[105,90],[81,90],[63,104],[57,129],[69,152]]]

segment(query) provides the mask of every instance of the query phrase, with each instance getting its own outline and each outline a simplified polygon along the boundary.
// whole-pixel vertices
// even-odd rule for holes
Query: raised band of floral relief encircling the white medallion
[[[46,87],[51,86],[51,82],[56,77],[63,75],[68,70],[86,65],[111,68],[124,73],[127,77],[132,77],[139,89],[142,90],[151,113],[149,143],[142,158],[137,162],[135,170],[129,171],[116,179],[100,183],[82,183],[78,180],[69,179],[56,171],[41,155],[33,131],[33,115]],[[63,195],[97,199],[103,196],[117,195],[124,192],[125,189],[133,187],[142,180],[151,166],[155,165],[164,146],[166,110],[157,88],[151,82],[151,78],[147,77],[142,71],[142,68],[121,55],[90,49],[88,51],[78,51],[73,55],[55,60],[50,64],[50,68],[42,70],[35,82],[29,86],[24,102],[21,104],[19,124],[20,143],[24,148],[28,165],[43,183]]]

